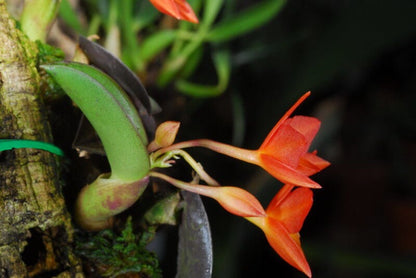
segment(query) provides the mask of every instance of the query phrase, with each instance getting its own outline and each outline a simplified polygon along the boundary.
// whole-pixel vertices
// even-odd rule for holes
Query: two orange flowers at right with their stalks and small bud
[[[299,232],[309,213],[313,192],[321,186],[310,176],[329,166],[329,162],[308,152],[320,121],[314,117],[294,116],[293,111],[310,95],[304,94],[277,122],[257,150],[246,150],[208,139],[173,143],[179,129],[177,122],[162,123],[155,140],[148,146],[152,170],[149,176],[160,178],[187,191],[215,199],[228,212],[244,217],[263,230],[271,247],[290,265],[311,277],[311,270],[300,244]],[[204,147],[215,152],[258,165],[284,183],[265,210],[248,191],[220,186],[187,152],[189,147]],[[156,172],[182,157],[207,185],[184,182]]]

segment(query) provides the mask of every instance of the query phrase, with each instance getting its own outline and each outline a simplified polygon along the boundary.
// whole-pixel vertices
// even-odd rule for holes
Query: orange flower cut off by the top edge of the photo
[[[198,23],[198,18],[186,0],[150,0],[150,2],[164,14],[173,16],[176,19]]]

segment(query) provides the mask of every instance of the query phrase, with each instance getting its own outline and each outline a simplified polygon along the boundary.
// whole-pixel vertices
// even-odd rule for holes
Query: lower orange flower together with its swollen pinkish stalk
[[[300,245],[299,231],[312,203],[312,190],[295,190],[286,184],[264,211],[260,202],[248,191],[232,186],[205,186],[183,182],[165,174],[150,172],[150,176],[172,185],[215,199],[228,212],[246,218],[263,230],[270,246],[287,263],[311,277],[311,270]]]

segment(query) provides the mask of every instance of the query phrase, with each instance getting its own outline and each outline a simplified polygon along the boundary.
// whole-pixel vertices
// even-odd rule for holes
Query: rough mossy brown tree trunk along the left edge
[[[0,138],[52,141],[39,96],[36,47],[0,0]],[[0,155],[0,277],[82,277],[61,193],[58,158],[15,149]]]

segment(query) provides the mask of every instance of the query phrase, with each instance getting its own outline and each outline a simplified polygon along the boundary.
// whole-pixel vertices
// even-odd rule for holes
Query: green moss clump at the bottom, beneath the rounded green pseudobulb
[[[140,274],[140,277],[162,277],[156,255],[146,249],[154,236],[154,228],[139,236],[133,231],[131,217],[119,235],[103,230],[89,238],[77,241],[76,252],[85,259],[84,267],[93,269],[102,277]]]

